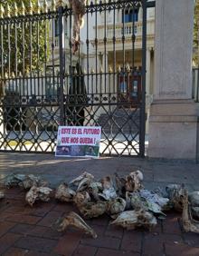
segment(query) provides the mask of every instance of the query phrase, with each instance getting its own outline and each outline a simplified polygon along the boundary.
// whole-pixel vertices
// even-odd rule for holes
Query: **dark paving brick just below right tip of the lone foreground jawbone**
[[[81,244],[90,245],[94,247],[105,247],[110,249],[118,249],[120,245],[120,239],[106,237],[106,236],[99,236],[97,239],[93,238],[82,238]]]

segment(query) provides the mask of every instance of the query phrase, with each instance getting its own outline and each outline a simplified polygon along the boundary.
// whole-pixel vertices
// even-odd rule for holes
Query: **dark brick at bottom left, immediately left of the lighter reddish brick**
[[[32,236],[23,237],[15,243],[15,247],[42,252],[51,252],[56,245],[55,240]]]

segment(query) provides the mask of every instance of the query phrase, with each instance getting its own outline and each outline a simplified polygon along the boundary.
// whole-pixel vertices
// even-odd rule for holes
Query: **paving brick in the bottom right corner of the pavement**
[[[171,243],[167,242],[166,247],[166,256],[198,256],[199,248],[190,247],[183,243]]]

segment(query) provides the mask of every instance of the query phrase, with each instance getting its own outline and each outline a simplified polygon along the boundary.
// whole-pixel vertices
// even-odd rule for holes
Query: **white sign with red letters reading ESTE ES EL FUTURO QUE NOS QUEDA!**
[[[56,156],[99,157],[100,126],[59,126]]]

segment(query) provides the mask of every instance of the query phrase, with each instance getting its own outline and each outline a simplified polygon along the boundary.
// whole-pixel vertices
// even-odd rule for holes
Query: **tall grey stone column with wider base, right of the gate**
[[[155,87],[148,155],[196,159],[192,100],[194,0],[156,1]]]

